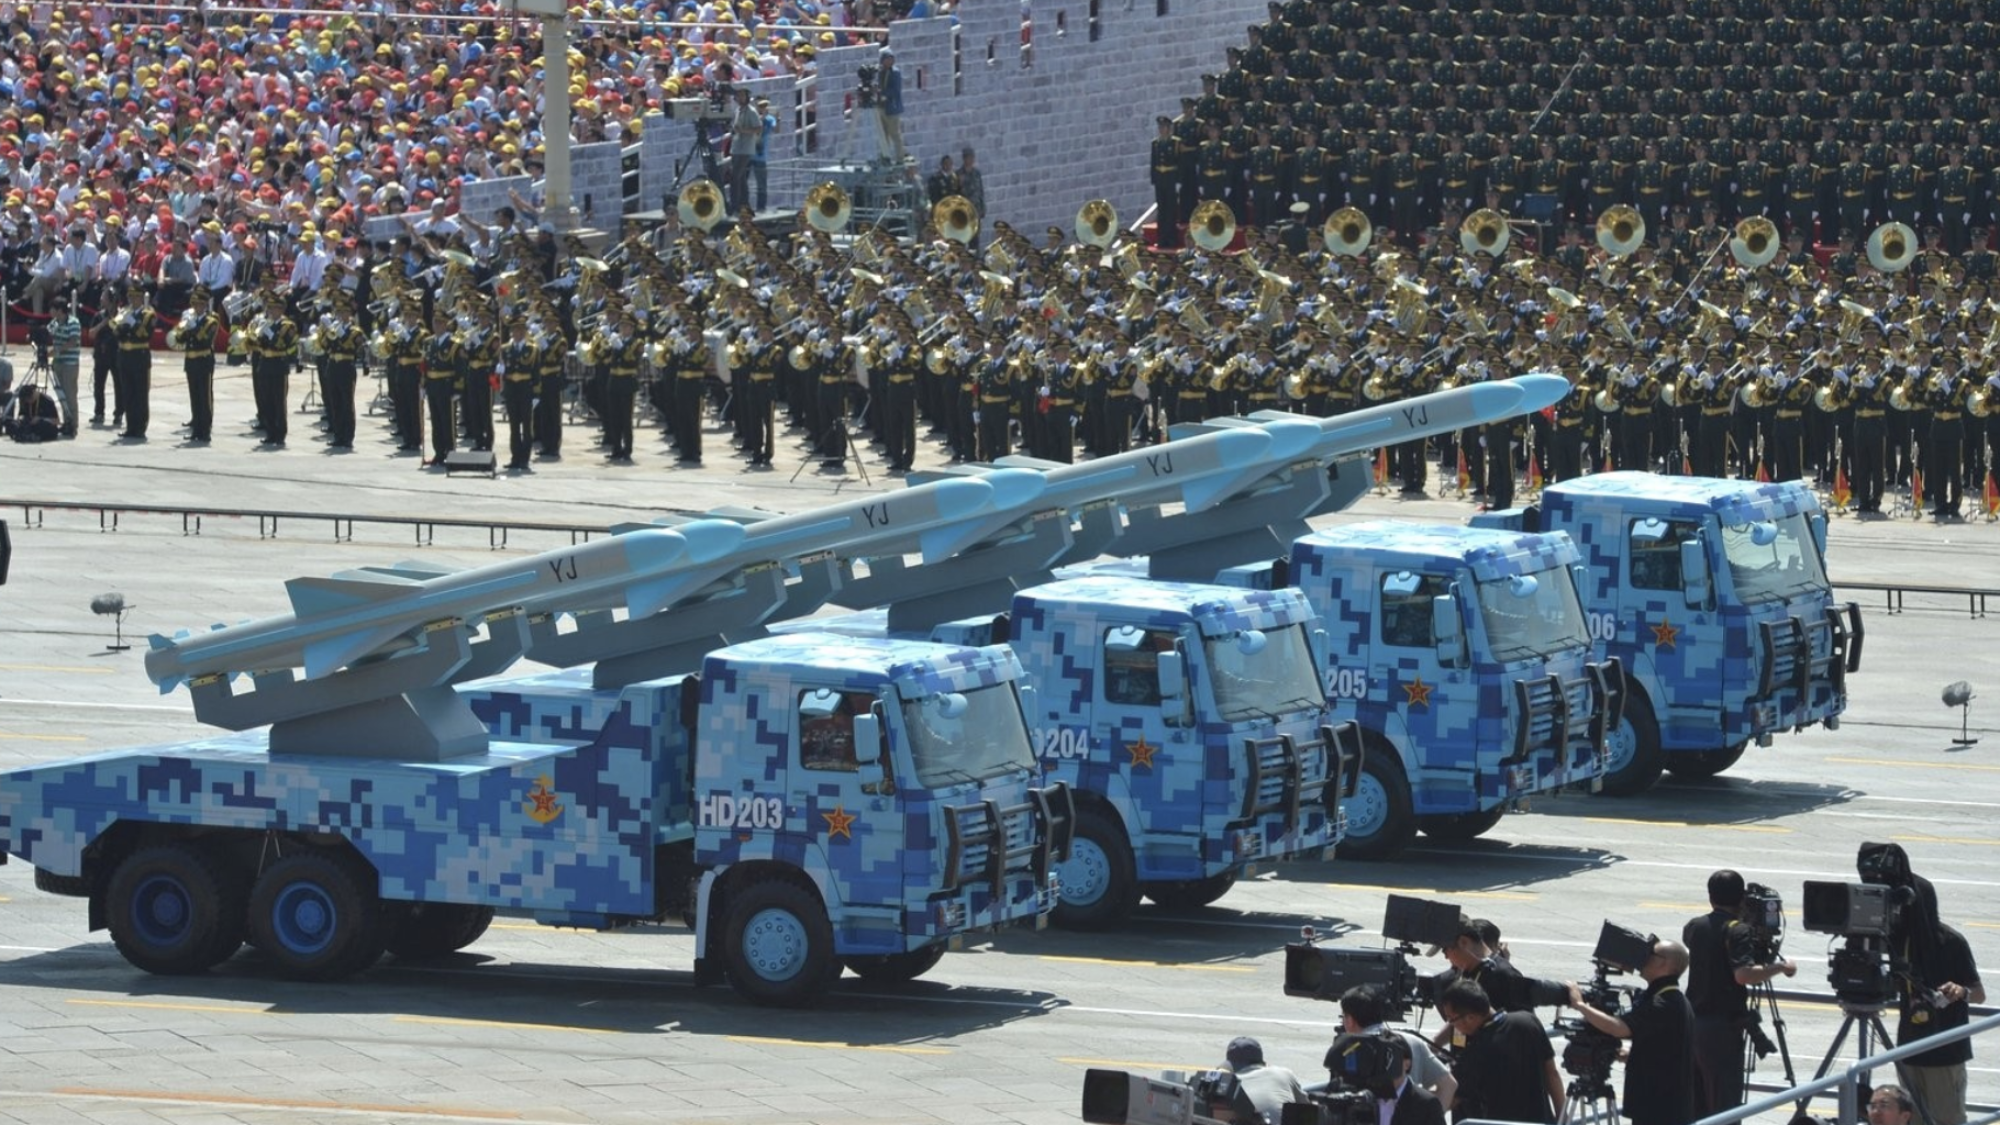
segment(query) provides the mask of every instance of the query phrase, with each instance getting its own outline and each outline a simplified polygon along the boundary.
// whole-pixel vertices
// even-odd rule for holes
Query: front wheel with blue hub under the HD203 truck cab
[[[840,977],[826,907],[788,879],[764,879],[730,895],[722,961],[730,985],[760,1005],[806,1007]]]

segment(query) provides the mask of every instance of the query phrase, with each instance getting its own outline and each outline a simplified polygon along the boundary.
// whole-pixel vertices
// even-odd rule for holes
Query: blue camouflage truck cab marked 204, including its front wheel
[[[1312,623],[1298,591],[1100,575],[934,631],[1006,639],[1034,685],[1036,757],[1078,807],[1060,925],[1108,925],[1140,895],[1202,907],[1260,863],[1338,843],[1356,747],[1328,721]]]

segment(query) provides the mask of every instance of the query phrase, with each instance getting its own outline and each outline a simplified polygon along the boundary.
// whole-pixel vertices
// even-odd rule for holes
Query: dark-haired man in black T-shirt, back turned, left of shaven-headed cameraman
[[[1452,981],[1438,997],[1444,1023],[1464,1035],[1452,1077],[1452,1121],[1542,1121],[1562,1117],[1562,1075],[1548,1033],[1526,1011],[1496,1013],[1478,981]]]

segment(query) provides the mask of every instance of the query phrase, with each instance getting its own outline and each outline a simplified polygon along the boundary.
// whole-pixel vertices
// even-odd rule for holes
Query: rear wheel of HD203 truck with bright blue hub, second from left
[[[258,875],[250,935],[286,977],[338,981],[382,957],[388,921],[360,861],[302,851]]]

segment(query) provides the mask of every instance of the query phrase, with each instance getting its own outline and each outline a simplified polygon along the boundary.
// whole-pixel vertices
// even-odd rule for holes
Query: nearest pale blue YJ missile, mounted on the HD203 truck
[[[292,579],[288,615],[152,637],[146,675],[162,695],[204,675],[302,667],[306,679],[320,679],[394,651],[436,621],[478,621],[514,607],[536,613],[624,605],[632,615],[654,613],[670,599],[676,569],[722,556],[742,538],[742,524],[700,520],[424,579],[414,577],[420,569]]]

